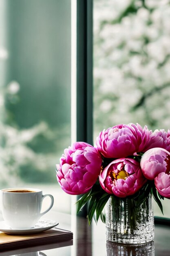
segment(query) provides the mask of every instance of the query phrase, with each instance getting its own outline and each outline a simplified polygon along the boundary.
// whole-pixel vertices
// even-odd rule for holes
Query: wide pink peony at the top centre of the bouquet
[[[103,130],[96,139],[96,147],[106,158],[121,158],[144,151],[152,131],[135,124],[119,124]]]

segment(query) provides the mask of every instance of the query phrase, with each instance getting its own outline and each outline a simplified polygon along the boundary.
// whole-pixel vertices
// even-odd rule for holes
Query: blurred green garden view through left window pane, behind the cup
[[[57,183],[71,141],[71,2],[0,0],[0,38],[0,186]]]

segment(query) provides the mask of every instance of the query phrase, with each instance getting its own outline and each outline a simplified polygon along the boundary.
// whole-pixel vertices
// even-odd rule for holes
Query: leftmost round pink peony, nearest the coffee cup
[[[102,157],[97,149],[85,142],[75,142],[64,150],[57,167],[57,180],[71,195],[88,192],[101,171]]]

